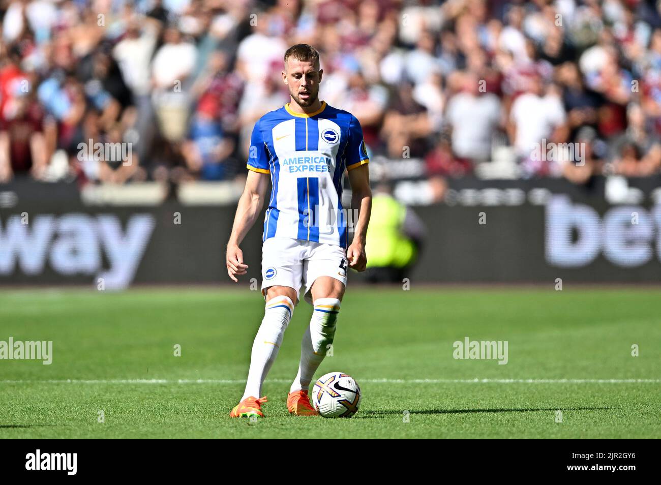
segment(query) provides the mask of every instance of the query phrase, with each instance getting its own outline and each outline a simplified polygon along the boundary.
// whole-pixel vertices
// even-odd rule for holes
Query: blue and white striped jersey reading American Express
[[[255,124],[248,168],[271,176],[262,241],[289,237],[347,246],[342,174],[369,163],[360,123],[321,103],[299,114],[289,103]]]

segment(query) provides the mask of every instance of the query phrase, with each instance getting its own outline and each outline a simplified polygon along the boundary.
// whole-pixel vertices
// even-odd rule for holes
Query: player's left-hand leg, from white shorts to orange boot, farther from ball
[[[260,404],[262,384],[273,365],[284,332],[292,319],[293,309],[301,286],[301,254],[295,240],[267,239],[262,253],[262,295],[266,300],[264,318],[257,330],[251,351],[248,380],[239,405],[230,413],[232,417],[264,416]]]

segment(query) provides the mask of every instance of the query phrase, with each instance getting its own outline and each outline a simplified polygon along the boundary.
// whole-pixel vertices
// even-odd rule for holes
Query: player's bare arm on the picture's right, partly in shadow
[[[358,221],[354,220],[354,240],[346,250],[349,266],[356,271],[365,271],[368,259],[365,254],[365,239],[371,214],[371,188],[369,188],[369,164],[348,171],[351,184],[351,207],[358,209]],[[356,213],[354,212],[354,216]]]

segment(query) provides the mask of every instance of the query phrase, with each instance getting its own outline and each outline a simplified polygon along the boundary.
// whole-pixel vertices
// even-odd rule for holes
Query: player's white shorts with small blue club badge
[[[305,301],[312,303],[310,288],[319,276],[340,280],[346,287],[347,270],[346,249],[336,244],[270,237],[262,245],[264,299],[270,286],[289,286],[298,294],[303,285]]]

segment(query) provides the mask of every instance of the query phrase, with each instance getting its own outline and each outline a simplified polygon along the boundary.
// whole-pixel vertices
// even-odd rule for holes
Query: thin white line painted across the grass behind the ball
[[[245,379],[4,379],[1,384],[245,384]],[[266,379],[266,383],[291,383]],[[361,379],[369,384],[661,384],[661,379]]]

